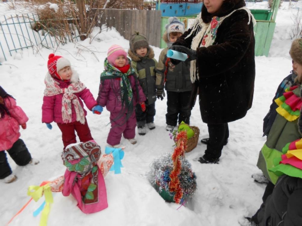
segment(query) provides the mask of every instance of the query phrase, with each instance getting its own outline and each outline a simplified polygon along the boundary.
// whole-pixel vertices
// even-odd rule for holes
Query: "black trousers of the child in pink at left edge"
[[[7,150],[8,154],[19,166],[25,166],[31,161],[31,154],[22,139],[14,142],[13,146]],[[0,151],[0,179],[11,175],[11,167],[8,164],[5,151]]]

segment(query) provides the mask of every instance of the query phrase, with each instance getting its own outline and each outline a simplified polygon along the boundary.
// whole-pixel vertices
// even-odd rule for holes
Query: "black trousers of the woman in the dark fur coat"
[[[223,124],[207,124],[209,131],[209,141],[204,158],[208,161],[215,161],[221,156],[223,143],[229,138],[229,126]]]

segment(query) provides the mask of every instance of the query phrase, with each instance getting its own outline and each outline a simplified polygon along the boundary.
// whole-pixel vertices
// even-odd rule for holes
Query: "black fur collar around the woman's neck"
[[[242,8],[245,5],[246,4],[244,0],[225,0],[223,1],[221,8],[216,13],[210,14],[208,13],[207,8],[203,4],[201,8],[201,18],[205,23],[209,23],[211,22],[214,16],[217,17],[226,16],[227,14],[230,14],[235,9]]]

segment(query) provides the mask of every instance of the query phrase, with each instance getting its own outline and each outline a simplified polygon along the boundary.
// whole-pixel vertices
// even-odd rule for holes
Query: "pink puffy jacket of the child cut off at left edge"
[[[14,98],[5,97],[5,106],[9,113],[0,118],[0,151],[11,148],[20,137],[19,126],[28,121],[21,107],[16,105]]]

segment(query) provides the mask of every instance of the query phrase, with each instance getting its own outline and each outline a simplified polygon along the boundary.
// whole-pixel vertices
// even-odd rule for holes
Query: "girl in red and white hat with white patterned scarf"
[[[101,114],[103,108],[79,80],[78,73],[71,68],[68,59],[50,54],[47,67],[42,123],[46,123],[48,129],[52,129],[51,122],[57,123],[62,132],[64,149],[76,143],[75,131],[81,142],[93,140],[82,100],[94,114]]]

